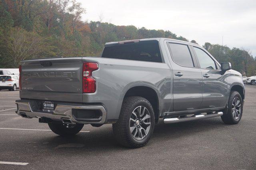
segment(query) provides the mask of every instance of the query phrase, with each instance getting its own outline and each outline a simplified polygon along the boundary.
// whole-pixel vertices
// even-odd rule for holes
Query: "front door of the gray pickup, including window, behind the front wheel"
[[[201,68],[203,102],[201,109],[224,107],[227,96],[227,81],[220,66],[204,49],[192,47]]]

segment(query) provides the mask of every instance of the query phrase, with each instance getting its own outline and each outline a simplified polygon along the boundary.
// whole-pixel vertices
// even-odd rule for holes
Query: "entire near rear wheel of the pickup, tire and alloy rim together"
[[[154,110],[143,97],[127,97],[122,104],[119,120],[112,125],[117,141],[129,148],[144,146],[154,131]]]

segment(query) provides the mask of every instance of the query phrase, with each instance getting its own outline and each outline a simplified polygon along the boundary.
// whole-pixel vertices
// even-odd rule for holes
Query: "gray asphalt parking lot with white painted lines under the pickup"
[[[60,137],[38,119],[15,114],[19,91],[0,91],[0,169],[255,169],[255,98],[256,86],[246,85],[238,125],[220,117],[168,125],[161,120],[146,146],[128,149],[116,143],[112,125],[85,125],[73,138]]]

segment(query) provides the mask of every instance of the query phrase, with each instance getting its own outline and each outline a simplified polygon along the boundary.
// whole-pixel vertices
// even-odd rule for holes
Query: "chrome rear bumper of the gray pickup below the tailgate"
[[[57,104],[53,113],[42,113],[42,112],[35,112],[32,110],[32,107],[30,105],[30,102],[28,101],[22,101],[18,100],[16,101],[17,105],[17,115],[20,115],[22,117],[27,118],[40,118],[40,117],[46,117],[49,119],[52,119],[54,121],[62,121],[65,122],[65,120],[70,120],[71,124],[104,124],[106,122],[106,110],[102,105],[60,105]],[[91,111],[91,110],[98,110],[100,111],[101,117],[99,121],[77,121],[75,117],[72,115],[72,109],[82,111]],[[86,114],[86,113],[85,113]]]

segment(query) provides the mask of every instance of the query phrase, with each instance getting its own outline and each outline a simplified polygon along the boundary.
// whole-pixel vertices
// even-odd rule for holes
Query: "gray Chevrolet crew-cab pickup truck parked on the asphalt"
[[[16,113],[61,136],[112,124],[123,146],[144,146],[164,123],[241,120],[242,75],[197,44],[166,38],[106,43],[101,57],[22,61]]]

